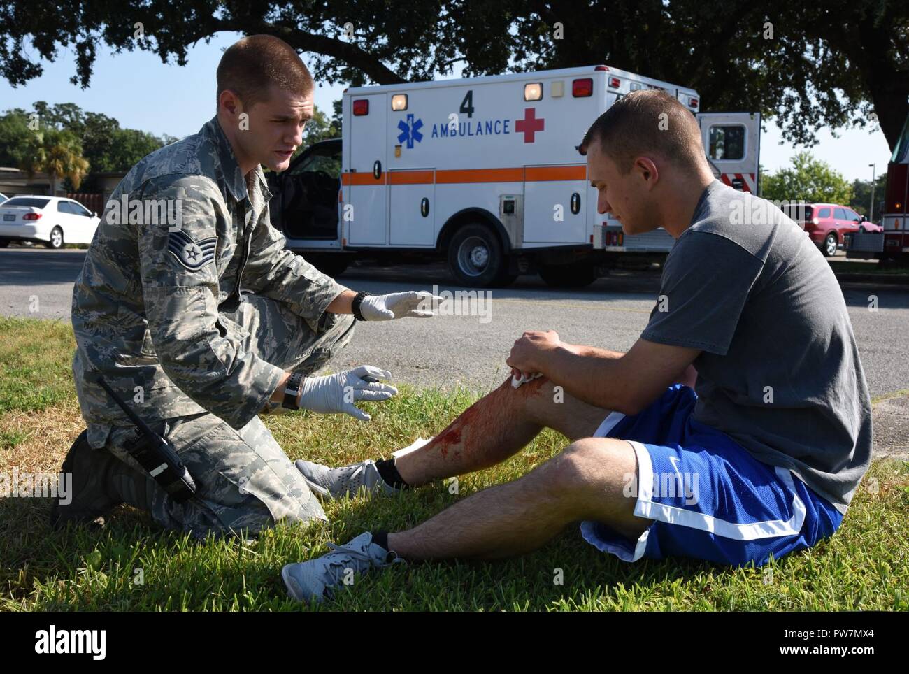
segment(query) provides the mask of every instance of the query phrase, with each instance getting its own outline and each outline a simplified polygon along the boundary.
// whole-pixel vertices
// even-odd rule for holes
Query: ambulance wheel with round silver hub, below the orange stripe
[[[482,224],[465,224],[454,233],[448,243],[448,268],[454,278],[468,288],[488,288],[510,282],[502,243]]]

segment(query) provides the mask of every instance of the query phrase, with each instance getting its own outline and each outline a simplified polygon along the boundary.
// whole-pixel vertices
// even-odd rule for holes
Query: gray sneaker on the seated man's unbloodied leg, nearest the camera
[[[331,599],[334,589],[351,584],[355,575],[405,563],[394,552],[376,545],[369,531],[361,533],[346,545],[329,543],[328,547],[332,551],[322,557],[287,564],[281,570],[288,597],[297,601]]]

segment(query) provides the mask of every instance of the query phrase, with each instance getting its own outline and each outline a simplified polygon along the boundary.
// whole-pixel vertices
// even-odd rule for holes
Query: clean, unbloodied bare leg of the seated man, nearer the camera
[[[624,494],[636,463],[626,441],[575,441],[518,480],[388,534],[388,547],[410,560],[494,559],[534,550],[575,520],[604,522],[634,540],[651,523],[634,516],[634,496]]]

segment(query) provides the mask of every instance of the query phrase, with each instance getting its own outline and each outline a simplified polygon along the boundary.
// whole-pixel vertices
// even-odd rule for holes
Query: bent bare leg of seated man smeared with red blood
[[[556,394],[544,377],[517,389],[509,377],[424,447],[396,459],[395,468],[414,486],[479,471],[521,450],[544,427],[576,440],[593,435],[608,414],[568,393]]]

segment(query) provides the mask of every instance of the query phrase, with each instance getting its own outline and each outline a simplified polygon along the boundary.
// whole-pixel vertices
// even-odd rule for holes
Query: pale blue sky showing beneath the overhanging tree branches
[[[54,63],[45,62],[45,73],[25,86],[13,88],[0,78],[0,111],[31,109],[35,101],[75,103],[84,110],[114,117],[126,128],[177,137],[195,134],[215,114],[215,68],[222,51],[239,37],[219,33],[208,45],[198,43],[189,49],[185,67],[162,64],[150,52],[114,54],[105,45],[98,45],[95,72],[85,90],[70,84],[69,78],[75,74],[74,53],[61,50]],[[306,55],[303,58],[306,62]],[[331,115],[332,102],[341,97],[345,86],[319,87],[316,107]],[[704,107],[710,104],[701,103]],[[782,134],[776,125],[771,122],[766,126],[761,137],[761,164],[774,171],[790,164],[792,155],[801,148],[780,144]],[[834,138],[829,131],[819,133],[820,142],[811,152],[849,180],[870,180],[872,169],[868,164],[876,163],[878,174],[886,171],[890,151],[880,130],[849,130],[839,135]]]

